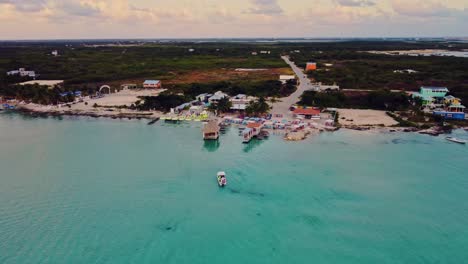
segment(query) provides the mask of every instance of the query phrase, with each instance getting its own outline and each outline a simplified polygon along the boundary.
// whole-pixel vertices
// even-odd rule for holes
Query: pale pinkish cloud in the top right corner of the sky
[[[393,0],[391,3],[396,13],[410,17],[455,17],[464,13],[432,0]]]

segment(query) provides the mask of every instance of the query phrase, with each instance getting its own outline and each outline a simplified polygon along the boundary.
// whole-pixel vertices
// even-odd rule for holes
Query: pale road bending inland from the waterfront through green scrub
[[[299,97],[301,97],[304,91],[313,88],[309,78],[307,78],[307,75],[302,71],[301,68],[297,67],[294,62],[290,61],[289,57],[282,56],[281,58],[293,69],[294,74],[296,74],[299,79],[299,85],[293,94],[288,97],[281,98],[281,102],[276,102],[273,104],[273,108],[271,110],[273,117],[276,114],[282,114],[283,116],[288,117],[290,115],[289,107],[299,101]]]

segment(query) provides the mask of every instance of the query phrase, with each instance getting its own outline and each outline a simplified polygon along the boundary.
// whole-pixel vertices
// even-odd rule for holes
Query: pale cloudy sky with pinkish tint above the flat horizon
[[[468,0],[0,0],[0,39],[467,37]]]

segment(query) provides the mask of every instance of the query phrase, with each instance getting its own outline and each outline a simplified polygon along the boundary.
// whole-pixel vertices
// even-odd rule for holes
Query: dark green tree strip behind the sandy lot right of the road
[[[305,92],[300,105],[338,108],[362,108],[387,111],[403,111],[412,107],[410,97],[405,93],[378,90],[368,93],[344,93],[339,91]]]

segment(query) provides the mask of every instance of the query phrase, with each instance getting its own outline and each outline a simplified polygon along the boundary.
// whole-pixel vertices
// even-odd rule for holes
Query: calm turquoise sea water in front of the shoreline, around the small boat
[[[468,146],[443,137],[3,113],[0,150],[2,264],[468,259]]]

